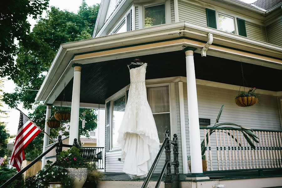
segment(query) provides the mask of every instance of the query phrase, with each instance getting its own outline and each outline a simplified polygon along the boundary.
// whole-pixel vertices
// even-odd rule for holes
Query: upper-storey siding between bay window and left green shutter
[[[189,21],[207,26],[206,8],[178,1],[179,21]]]

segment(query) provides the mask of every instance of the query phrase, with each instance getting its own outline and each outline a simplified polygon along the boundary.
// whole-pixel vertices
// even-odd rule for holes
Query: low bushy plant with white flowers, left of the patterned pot
[[[45,165],[36,176],[36,187],[39,188],[69,188],[73,186],[72,180],[67,176],[67,171],[61,166]],[[46,170],[47,169],[47,170]]]

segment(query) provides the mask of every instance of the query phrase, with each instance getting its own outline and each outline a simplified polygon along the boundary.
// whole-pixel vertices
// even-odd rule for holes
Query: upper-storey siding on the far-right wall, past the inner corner
[[[266,26],[268,42],[282,46],[282,18]]]

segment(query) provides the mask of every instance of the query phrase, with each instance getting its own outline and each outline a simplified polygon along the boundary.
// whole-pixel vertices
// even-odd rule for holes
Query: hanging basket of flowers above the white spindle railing
[[[251,88],[249,91],[239,91],[238,95],[235,97],[235,102],[239,107],[250,107],[253,106],[258,98],[255,94],[256,88]]]

